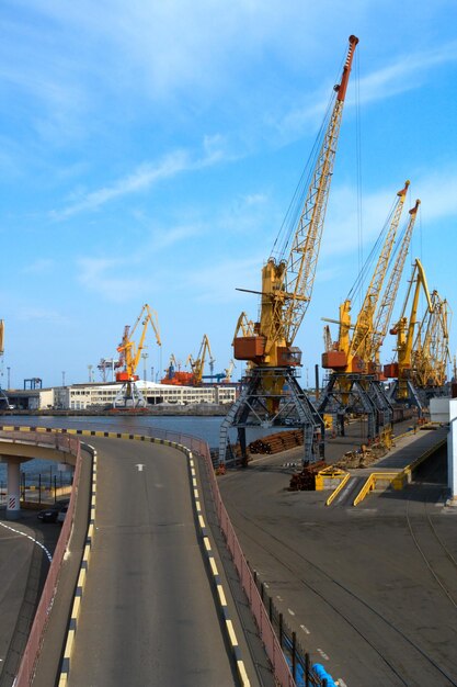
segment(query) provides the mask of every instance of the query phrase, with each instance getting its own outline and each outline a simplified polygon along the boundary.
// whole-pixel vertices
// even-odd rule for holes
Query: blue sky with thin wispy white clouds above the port
[[[454,1],[7,0],[0,21],[3,387],[8,367],[14,387],[87,381],[144,303],[162,339],[148,379],[204,334],[228,365],[238,315],[258,311],[236,288],[260,288],[350,34],[304,379],[405,179],[422,201],[411,255],[454,306]]]

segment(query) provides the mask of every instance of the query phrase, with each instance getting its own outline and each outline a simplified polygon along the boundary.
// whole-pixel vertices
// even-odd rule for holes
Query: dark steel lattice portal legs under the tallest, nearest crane
[[[278,385],[282,391],[274,398],[270,391],[272,376],[283,380],[283,384]],[[294,368],[253,368],[241,384],[241,393],[220,426],[219,464],[226,463],[231,428],[238,430],[244,465],[247,464],[245,429],[248,427],[300,428],[304,430],[304,462],[315,462],[323,454],[322,417],[298,384]],[[271,407],[276,409],[272,413],[269,409]]]

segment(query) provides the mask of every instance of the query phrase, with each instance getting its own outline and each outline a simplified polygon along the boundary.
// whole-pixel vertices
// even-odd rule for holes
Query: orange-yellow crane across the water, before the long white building
[[[134,336],[140,323],[142,325],[142,329],[139,341],[136,344]],[[157,345],[161,346],[157,313],[146,303],[142,306],[132,330],[128,325],[125,326],[122,342],[117,347],[121,362],[119,367],[122,367],[123,370],[116,372],[116,382],[122,382],[122,388],[114,399],[115,407],[117,405],[130,405],[133,407],[146,406],[145,397],[136,385],[136,382],[139,380],[136,370],[141,357],[141,351],[145,347],[145,338],[148,326],[152,327]]]

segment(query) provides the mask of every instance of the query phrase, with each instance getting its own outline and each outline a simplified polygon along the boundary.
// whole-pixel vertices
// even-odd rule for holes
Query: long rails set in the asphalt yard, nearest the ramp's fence
[[[338,601],[334,600],[332,601],[331,599],[329,599],[329,594],[328,592],[324,594],[323,592],[319,590],[313,584],[309,583],[307,579],[305,579],[300,573],[297,573],[297,568],[294,568],[294,566],[287,564],[284,559],[282,559],[278,553],[277,553],[277,545],[281,544],[282,547],[284,547],[285,549],[287,549],[288,551],[290,551],[295,556],[297,556],[298,559],[300,559],[302,562],[307,563],[310,567],[312,567],[315,571],[317,571],[321,576],[325,577],[328,581],[330,581],[331,583],[333,583],[333,585],[335,587],[338,587],[339,590],[343,590],[346,595],[349,595],[352,599],[358,601],[358,604],[361,604],[364,609],[366,609],[367,611],[369,611],[373,616],[375,616],[378,620],[380,620],[385,627],[387,627],[390,631],[392,631],[393,633],[396,633],[399,638],[401,638],[403,640],[403,642],[405,642],[407,644],[409,644],[427,664],[429,666],[432,666],[441,676],[442,678],[444,677],[447,683],[449,685],[453,685],[454,687],[457,687],[457,678],[454,678],[452,675],[449,675],[444,668],[442,668],[436,661],[430,656],[423,649],[421,649],[421,646],[419,646],[410,637],[408,637],[402,630],[400,630],[399,628],[397,628],[390,620],[388,620],[381,612],[379,612],[374,606],[372,606],[368,601],[364,600],[362,597],[359,597],[355,592],[353,592],[352,589],[350,589],[349,587],[346,587],[343,583],[339,582],[335,577],[333,577],[332,575],[330,575],[323,567],[321,567],[320,565],[313,563],[312,561],[310,561],[308,558],[306,558],[305,555],[302,555],[299,551],[297,551],[296,549],[294,549],[293,547],[290,547],[289,544],[285,543],[283,540],[281,540],[279,538],[275,537],[271,531],[269,531],[266,528],[262,527],[261,525],[259,525],[259,522],[256,522],[254,519],[250,518],[249,516],[244,515],[243,513],[241,513],[238,508],[232,507],[231,508],[233,511],[237,511],[238,516],[240,518],[242,518],[243,520],[250,522],[251,526],[254,526],[256,529],[259,529],[260,531],[264,532],[265,534],[267,534],[273,541],[274,541],[274,547],[275,549],[269,549],[266,545],[262,544],[259,539],[255,539],[252,534],[250,534],[245,529],[239,527],[237,525],[237,530],[239,530],[240,532],[242,532],[245,537],[248,537],[249,539],[253,540],[255,542],[255,544],[258,547],[260,547],[261,549],[263,549],[264,551],[266,551],[269,553],[270,556],[272,556],[277,563],[279,563],[279,565],[282,565],[283,567],[285,567],[286,570],[288,570],[290,573],[293,573],[297,581],[306,588],[308,588],[310,592],[312,592],[316,596],[318,596],[324,604],[327,604],[335,613],[338,613],[363,640],[364,642],[366,642],[366,644],[368,644],[373,651],[375,651],[375,653],[379,656],[379,658],[385,663],[385,665],[391,671],[391,673],[400,680],[400,683],[402,685],[405,685],[407,687],[411,687],[411,682],[407,680],[400,673],[400,671],[396,667],[396,665],[382,653],[382,651],[376,645],[376,643],[372,640],[369,640],[366,637],[366,632],[362,631],[355,621],[353,621],[351,619],[351,617],[344,612],[343,610],[341,610],[341,608],[339,608],[338,606]]]

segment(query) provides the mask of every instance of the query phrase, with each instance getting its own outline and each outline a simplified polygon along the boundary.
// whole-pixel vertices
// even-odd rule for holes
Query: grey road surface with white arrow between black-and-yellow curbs
[[[196,538],[186,457],[94,439],[96,532],[70,687],[237,684]]]

